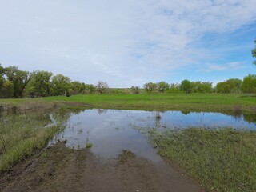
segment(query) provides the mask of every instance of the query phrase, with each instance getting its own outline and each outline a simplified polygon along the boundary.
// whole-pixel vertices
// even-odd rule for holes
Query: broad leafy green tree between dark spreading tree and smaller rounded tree
[[[34,71],[31,81],[26,86],[26,96],[30,98],[49,96],[52,85],[50,78],[52,75],[52,73],[47,71]]]

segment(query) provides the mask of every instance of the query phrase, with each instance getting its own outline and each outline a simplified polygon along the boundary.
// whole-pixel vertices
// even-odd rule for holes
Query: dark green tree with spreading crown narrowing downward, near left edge
[[[16,66],[5,68],[7,80],[12,82],[14,87],[14,98],[22,98],[23,90],[30,82],[32,76],[28,71],[18,70]]]

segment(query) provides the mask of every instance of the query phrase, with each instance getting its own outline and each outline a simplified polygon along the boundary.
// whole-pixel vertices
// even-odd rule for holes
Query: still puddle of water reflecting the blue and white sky
[[[158,162],[160,158],[145,137],[136,129],[138,127],[165,127],[166,129],[182,129],[191,126],[216,128],[230,126],[256,130],[256,124],[243,118],[234,118],[218,113],[190,113],[179,111],[161,113],[133,110],[85,110],[80,114],[72,114],[66,129],[56,136],[67,140],[70,148],[84,148],[87,142],[93,144],[91,151],[103,158],[113,158],[122,150],[130,150],[139,157]]]

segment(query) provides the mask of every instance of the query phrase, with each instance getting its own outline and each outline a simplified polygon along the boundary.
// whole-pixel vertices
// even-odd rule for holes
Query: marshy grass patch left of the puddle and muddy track
[[[4,114],[0,118],[0,171],[42,149],[62,128],[49,114]]]

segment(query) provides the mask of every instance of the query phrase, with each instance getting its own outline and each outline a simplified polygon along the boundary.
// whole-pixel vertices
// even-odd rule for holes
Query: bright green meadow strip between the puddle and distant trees
[[[86,94],[42,98],[47,102],[81,102],[94,108],[132,110],[200,110],[244,112],[256,109],[255,95],[246,94]]]

